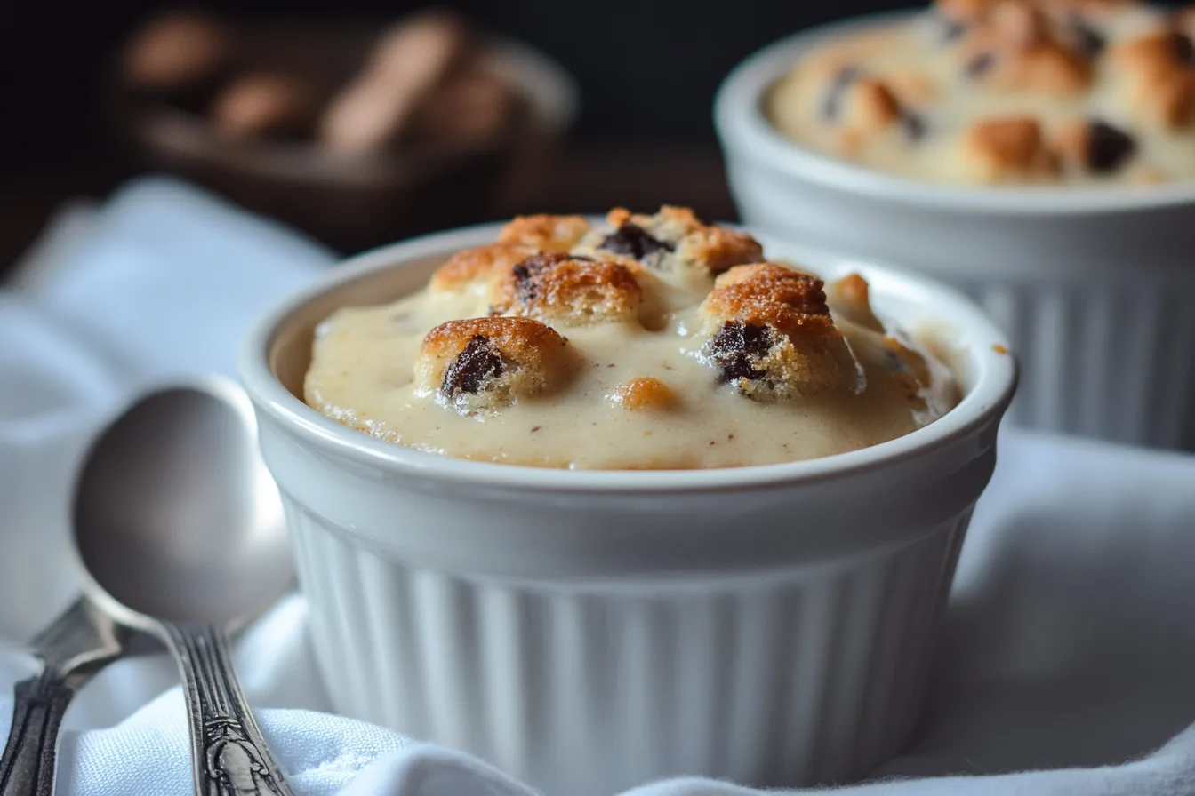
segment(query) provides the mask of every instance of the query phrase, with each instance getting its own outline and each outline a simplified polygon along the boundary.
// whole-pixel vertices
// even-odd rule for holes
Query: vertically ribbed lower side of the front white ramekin
[[[577,585],[423,569],[287,514],[337,710],[577,796],[868,773],[915,722],[969,517],[828,564]]]

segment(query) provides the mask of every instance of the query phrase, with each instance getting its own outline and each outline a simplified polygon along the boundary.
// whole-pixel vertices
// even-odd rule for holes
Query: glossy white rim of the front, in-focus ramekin
[[[376,247],[349,258],[278,302],[257,321],[241,344],[238,358],[239,378],[255,406],[325,451],[410,476],[538,492],[678,493],[815,483],[891,467],[945,448],[998,421],[1016,390],[1018,365],[1009,339],[978,307],[949,286],[878,264],[868,264],[868,267],[964,311],[968,329],[961,333],[974,340],[978,356],[982,358],[981,375],[968,395],[938,420],[888,442],[821,458],[694,470],[570,470],[474,462],[412,450],[343,426],[304,403],[274,375],[269,350],[276,329],[307,302],[368,274],[403,267],[410,260],[490,241],[500,226],[501,222],[473,224]]]

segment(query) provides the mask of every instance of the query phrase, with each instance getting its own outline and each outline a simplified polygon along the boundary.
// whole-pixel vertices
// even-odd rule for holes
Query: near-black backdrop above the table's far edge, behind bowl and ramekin
[[[186,8],[238,16],[323,18],[330,13],[393,20],[428,7],[403,0],[197,0]],[[718,81],[752,50],[785,33],[901,0],[446,0],[491,30],[557,58],[581,82],[584,141],[712,146],[710,100]],[[32,165],[87,144],[90,78],[100,60],[153,11],[153,0],[7,0],[0,31],[4,60],[4,155]]]

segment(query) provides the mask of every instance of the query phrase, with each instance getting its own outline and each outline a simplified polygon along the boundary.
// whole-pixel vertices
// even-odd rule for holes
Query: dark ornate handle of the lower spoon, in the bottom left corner
[[[51,796],[59,728],[75,692],[125,652],[129,631],[76,600],[33,640],[42,673],[13,686],[0,796]]]

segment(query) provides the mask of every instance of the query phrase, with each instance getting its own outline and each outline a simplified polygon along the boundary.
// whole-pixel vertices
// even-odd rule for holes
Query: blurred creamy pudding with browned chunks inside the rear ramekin
[[[939,183],[1195,177],[1195,8],[938,0],[810,51],[766,98],[790,138]]]

